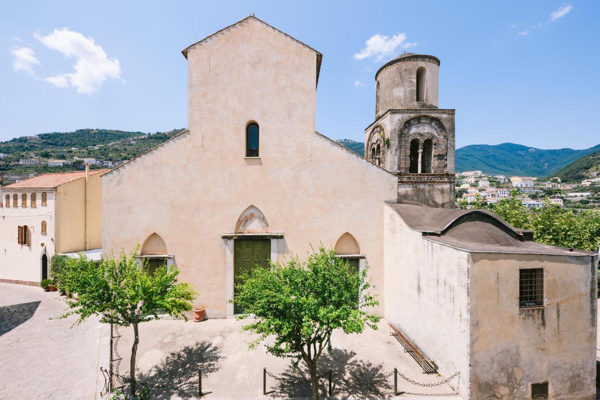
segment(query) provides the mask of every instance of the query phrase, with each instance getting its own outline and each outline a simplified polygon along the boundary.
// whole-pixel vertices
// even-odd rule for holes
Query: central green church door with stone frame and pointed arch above
[[[268,265],[268,261],[278,261],[283,252],[283,233],[272,232],[265,214],[256,205],[249,205],[235,222],[233,233],[221,234],[225,250],[225,291],[226,300],[233,298],[236,271],[253,268],[256,264]],[[269,257],[270,255],[270,257]],[[250,265],[247,265],[250,260]],[[251,265],[254,264],[254,265]],[[226,303],[227,317],[236,312],[233,303]]]

